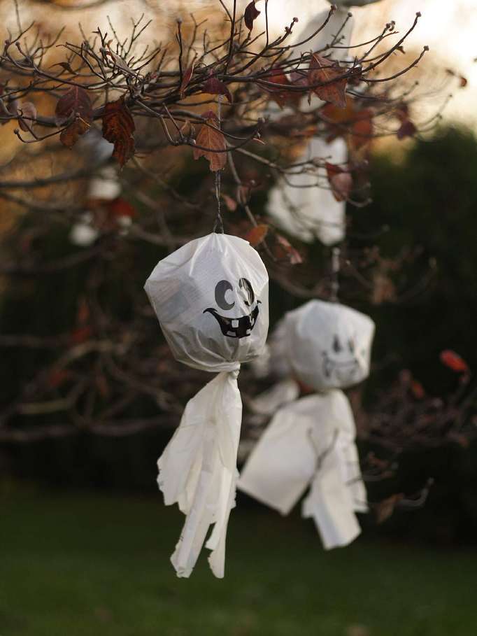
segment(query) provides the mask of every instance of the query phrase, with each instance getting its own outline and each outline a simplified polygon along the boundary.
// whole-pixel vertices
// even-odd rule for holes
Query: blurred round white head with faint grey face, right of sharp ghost
[[[339,303],[312,300],[285,317],[292,372],[315,390],[346,388],[369,374],[374,323]]]

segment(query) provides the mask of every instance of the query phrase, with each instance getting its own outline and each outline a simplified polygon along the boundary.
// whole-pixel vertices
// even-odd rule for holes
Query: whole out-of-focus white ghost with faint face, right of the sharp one
[[[288,378],[280,382],[283,390],[258,401],[264,413],[283,396],[238,488],[281,514],[308,488],[302,516],[314,519],[326,549],[344,546],[359,535],[355,512],[367,505],[353,411],[341,389],[369,374],[374,323],[342,304],[312,300],[287,313],[279,329],[292,376],[316,393],[284,403],[293,395]]]

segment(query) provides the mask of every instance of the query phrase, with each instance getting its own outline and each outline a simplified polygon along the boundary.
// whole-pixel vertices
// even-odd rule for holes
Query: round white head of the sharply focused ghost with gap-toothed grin
[[[225,371],[262,351],[268,276],[247,241],[227,234],[191,241],[157,264],[145,290],[180,362]]]

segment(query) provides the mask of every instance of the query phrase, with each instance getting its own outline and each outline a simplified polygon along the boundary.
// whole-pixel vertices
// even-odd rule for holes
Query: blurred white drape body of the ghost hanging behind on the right
[[[360,532],[355,511],[366,509],[366,491],[353,412],[341,390],[282,407],[238,481],[238,488],[281,514],[288,514],[308,487],[302,515],[313,517],[325,548],[352,542]]]

